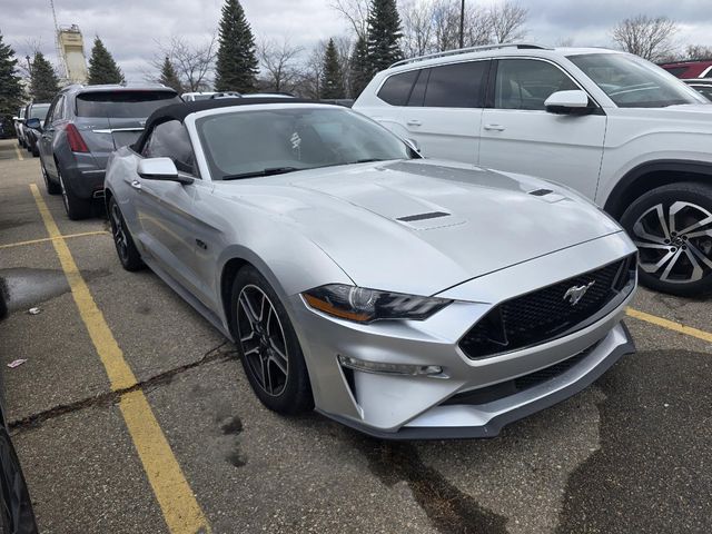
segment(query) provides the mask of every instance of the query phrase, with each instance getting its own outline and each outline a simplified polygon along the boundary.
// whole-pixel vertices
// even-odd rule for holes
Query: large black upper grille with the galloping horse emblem
[[[472,359],[555,339],[583,328],[609,303],[632,289],[635,255],[495,306],[459,342]],[[580,300],[574,288],[586,287]],[[570,294],[566,297],[567,293]]]

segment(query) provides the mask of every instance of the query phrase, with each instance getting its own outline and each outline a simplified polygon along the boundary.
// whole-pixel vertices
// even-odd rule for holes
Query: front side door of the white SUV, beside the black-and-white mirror
[[[582,89],[560,66],[543,59],[500,59],[482,115],[479,165],[560,181],[594,198],[606,116],[547,112],[556,91]],[[591,98],[591,97],[590,97]]]

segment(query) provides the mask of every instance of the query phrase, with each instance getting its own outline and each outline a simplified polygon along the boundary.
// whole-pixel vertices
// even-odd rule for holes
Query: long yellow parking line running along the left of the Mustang
[[[103,314],[95,303],[87,283],[81,277],[39,188],[36,184],[31,184],[30,189],[47,233],[52,238],[52,245],[67,276],[75,303],[79,308],[79,315],[107,372],[111,388],[118,390],[136,385],[134,372],[123,359],[123,353],[113,338]],[[148,482],[161,507],[168,530],[171,533],[180,534],[210,532],[202,510],[200,510],[200,505],[196,501],[144,392],[136,389],[121,395],[119,408],[138,456],[144,464]]]

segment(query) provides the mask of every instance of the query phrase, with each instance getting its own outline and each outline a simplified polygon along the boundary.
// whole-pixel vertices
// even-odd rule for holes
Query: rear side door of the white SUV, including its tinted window
[[[477,162],[488,70],[486,59],[421,70],[399,121],[425,157]]]

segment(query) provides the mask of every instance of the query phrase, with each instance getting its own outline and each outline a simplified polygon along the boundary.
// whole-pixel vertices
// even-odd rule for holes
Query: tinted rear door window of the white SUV
[[[488,61],[433,67],[425,91],[428,108],[482,107]]]

